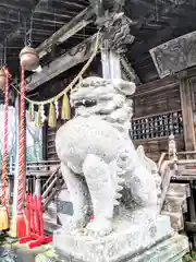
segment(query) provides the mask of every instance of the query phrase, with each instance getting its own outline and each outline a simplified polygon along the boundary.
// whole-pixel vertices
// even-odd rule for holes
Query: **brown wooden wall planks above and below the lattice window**
[[[180,83],[176,76],[164,78],[137,87],[132,96],[134,105],[133,119],[164,115],[181,110]],[[177,151],[184,151],[184,136],[176,134]],[[158,162],[162,152],[168,152],[168,136],[134,140],[135,146],[144,146],[147,156]]]

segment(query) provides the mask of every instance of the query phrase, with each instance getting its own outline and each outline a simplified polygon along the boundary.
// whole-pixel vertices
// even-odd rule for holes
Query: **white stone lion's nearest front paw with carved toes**
[[[112,222],[106,218],[95,218],[86,229],[86,236],[103,237],[112,231]]]

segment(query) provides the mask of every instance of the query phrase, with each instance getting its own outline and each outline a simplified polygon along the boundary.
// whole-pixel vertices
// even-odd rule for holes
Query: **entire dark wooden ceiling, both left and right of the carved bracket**
[[[87,7],[88,0],[1,0],[0,45],[8,47],[11,73],[19,73],[19,53],[25,41],[38,47]],[[124,12],[134,21],[135,36],[126,57],[143,83],[156,80],[149,49],[196,29],[196,0],[126,0]],[[57,51],[64,52],[95,32],[96,26],[88,24],[41,62],[48,63]]]

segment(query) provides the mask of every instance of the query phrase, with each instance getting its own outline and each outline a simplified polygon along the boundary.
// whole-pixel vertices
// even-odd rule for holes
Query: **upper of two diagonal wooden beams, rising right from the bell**
[[[78,13],[73,20],[71,20],[68,24],[62,26],[52,36],[38,46],[37,51],[39,52],[39,58],[42,58],[50,52],[53,45],[60,45],[84,28],[90,23],[90,19],[93,16],[94,10],[91,8],[86,8],[84,11]]]

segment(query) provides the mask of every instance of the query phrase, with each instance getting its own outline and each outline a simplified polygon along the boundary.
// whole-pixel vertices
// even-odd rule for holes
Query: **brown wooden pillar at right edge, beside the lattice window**
[[[195,151],[195,131],[193,118],[192,88],[188,79],[180,79],[181,108],[183,116],[184,143],[186,151]]]

